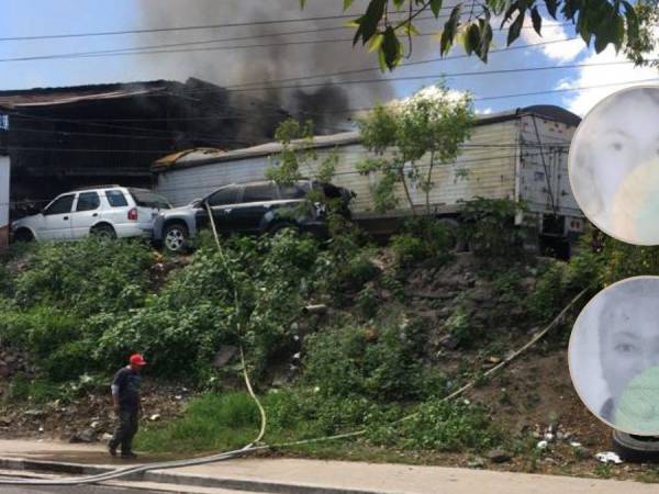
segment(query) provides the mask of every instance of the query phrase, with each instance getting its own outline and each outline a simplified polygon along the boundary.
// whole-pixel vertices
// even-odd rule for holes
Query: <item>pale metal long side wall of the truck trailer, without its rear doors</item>
[[[437,212],[451,206],[455,209],[460,201],[476,197],[514,198],[515,164],[518,155],[516,139],[516,120],[473,127],[472,136],[456,162],[434,167],[432,181],[435,187],[429,194],[432,209]],[[333,182],[357,194],[353,203],[356,216],[372,214],[371,187],[378,177],[373,173],[362,176],[355,168],[359,161],[372,155],[361,145],[344,145],[334,150],[320,149],[316,165],[333,151],[339,155]],[[266,168],[273,162],[269,157],[260,156],[160,171],[157,191],[169,198],[175,205],[182,205],[226,183],[261,180],[265,178]],[[424,172],[429,170],[429,156],[424,157],[420,166]],[[303,175],[313,176],[314,169],[312,164],[310,168],[303,168],[301,171]],[[462,178],[459,170],[466,170],[467,177]],[[425,207],[426,198],[422,190],[412,189],[411,195],[415,207]],[[402,187],[399,187],[396,197],[398,213],[409,213],[410,207]]]

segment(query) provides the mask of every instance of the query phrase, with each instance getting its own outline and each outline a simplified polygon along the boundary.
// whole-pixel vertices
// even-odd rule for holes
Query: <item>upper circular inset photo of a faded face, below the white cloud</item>
[[[659,86],[600,101],[574,133],[568,170],[585,216],[635,245],[659,245]]]

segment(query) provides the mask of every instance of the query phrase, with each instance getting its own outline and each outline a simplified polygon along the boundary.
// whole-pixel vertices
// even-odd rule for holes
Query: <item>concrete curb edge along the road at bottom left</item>
[[[23,458],[0,458],[0,469],[25,472],[47,472],[69,475],[94,475],[107,473],[112,468],[96,464],[68,463],[60,461],[29,460]],[[290,484],[272,482],[266,479],[236,479],[189,473],[174,473],[165,470],[154,470],[134,473],[122,478],[126,481],[155,482],[178,484],[196,487],[216,487],[234,491],[281,493],[281,494],[382,494],[382,491],[364,491],[332,487],[324,485]]]

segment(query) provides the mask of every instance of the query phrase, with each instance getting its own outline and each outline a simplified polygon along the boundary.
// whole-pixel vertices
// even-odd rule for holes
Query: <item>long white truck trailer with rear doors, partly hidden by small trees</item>
[[[568,148],[579,121],[558,106],[480,115],[458,159],[434,168],[435,187],[429,194],[433,212],[455,216],[463,201],[477,197],[522,200],[528,213],[518,215],[515,222],[530,233],[527,238],[537,240],[538,247],[543,243],[567,246],[567,240],[576,239],[584,228],[567,170]],[[333,183],[357,194],[351,204],[353,217],[367,229],[386,233],[395,223],[393,218],[411,214],[402,188],[398,191],[400,209],[386,214],[375,211],[371,187],[378,176],[364,176],[355,168],[370,156],[357,132],[317,136],[313,146],[319,162],[324,153],[338,154]],[[156,191],[172,204],[183,205],[227,183],[263,180],[280,150],[280,144],[270,143],[231,151],[192,149],[166,156],[152,168]],[[312,176],[313,169],[302,172]],[[425,193],[412,189],[411,195],[414,206],[424,210]]]

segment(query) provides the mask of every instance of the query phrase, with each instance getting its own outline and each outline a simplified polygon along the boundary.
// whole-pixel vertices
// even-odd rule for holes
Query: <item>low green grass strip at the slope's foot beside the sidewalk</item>
[[[482,451],[496,446],[495,428],[481,411],[462,404],[421,405],[417,418],[393,426],[404,408],[362,398],[328,400],[303,390],[263,397],[268,416],[264,441],[278,445],[367,429],[364,437],[287,448],[288,454],[324,459],[424,462],[435,451]],[[183,415],[166,424],[149,424],[136,437],[136,448],[150,453],[197,454],[227,451],[252,442],[259,414],[247,393],[208,393],[192,400]]]

